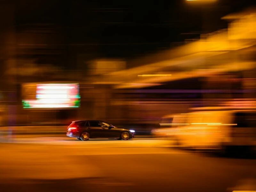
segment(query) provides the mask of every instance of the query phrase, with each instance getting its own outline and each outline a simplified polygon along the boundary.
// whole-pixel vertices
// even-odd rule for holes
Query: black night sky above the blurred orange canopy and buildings
[[[253,2],[19,0],[16,25],[51,23],[67,34],[65,44],[97,47],[100,57],[131,58],[168,49],[172,42],[177,45],[198,38],[205,29],[226,28],[222,16],[252,6]],[[210,25],[206,26],[205,20]]]

